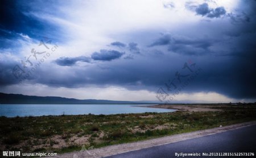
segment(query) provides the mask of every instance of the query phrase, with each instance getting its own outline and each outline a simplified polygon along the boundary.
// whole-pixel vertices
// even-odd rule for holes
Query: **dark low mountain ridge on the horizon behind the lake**
[[[130,104],[130,103],[142,103],[142,102],[130,102],[130,101],[109,101],[109,100],[97,100],[97,99],[74,99],[63,97],[38,97],[22,94],[6,94],[0,93],[0,103],[12,103],[12,104]],[[147,102],[144,102],[147,103]]]

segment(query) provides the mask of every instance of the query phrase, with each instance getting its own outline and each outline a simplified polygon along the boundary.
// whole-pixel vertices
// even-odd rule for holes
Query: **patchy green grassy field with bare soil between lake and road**
[[[82,145],[98,148],[256,120],[255,105],[216,109],[220,111],[0,117],[0,148],[64,153]]]

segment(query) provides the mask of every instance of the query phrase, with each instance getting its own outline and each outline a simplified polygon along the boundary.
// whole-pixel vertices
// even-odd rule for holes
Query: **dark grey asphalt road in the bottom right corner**
[[[184,157],[230,157],[230,156],[202,156],[203,153],[214,152],[254,152],[256,154],[256,125],[242,127],[214,135],[202,136],[183,140],[176,143],[159,145],[108,157],[177,157],[175,153],[200,153],[200,156]],[[182,157],[182,156],[179,156]],[[240,157],[240,156],[233,156]],[[245,156],[254,157],[254,156]]]

